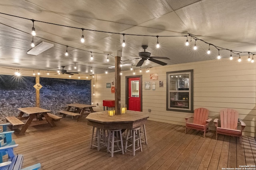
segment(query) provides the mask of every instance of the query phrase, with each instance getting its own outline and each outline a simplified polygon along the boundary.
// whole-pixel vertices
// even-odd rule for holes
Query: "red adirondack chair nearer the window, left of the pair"
[[[197,108],[194,110],[194,119],[193,119],[193,123],[188,123],[188,118],[192,117],[187,117],[186,119],[186,130],[185,133],[187,131],[187,128],[190,129],[196,129],[199,131],[204,131],[204,136],[205,136],[205,132],[208,129],[208,124],[209,122],[212,120],[212,118],[207,119],[209,115],[209,110],[203,107]]]

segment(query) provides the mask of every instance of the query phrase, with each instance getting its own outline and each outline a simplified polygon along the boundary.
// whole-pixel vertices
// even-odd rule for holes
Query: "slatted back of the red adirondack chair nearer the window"
[[[209,115],[209,110],[203,107],[194,110],[194,121],[193,123],[199,125],[205,125]]]

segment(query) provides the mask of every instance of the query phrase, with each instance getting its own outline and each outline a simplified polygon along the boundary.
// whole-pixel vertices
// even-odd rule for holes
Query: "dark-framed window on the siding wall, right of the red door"
[[[166,110],[193,113],[193,70],[166,72]]]

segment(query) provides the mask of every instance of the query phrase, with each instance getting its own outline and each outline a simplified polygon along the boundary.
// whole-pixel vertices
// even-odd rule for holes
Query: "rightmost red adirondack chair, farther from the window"
[[[238,123],[241,124],[241,130],[237,129]],[[238,122],[238,111],[234,109],[220,110],[220,127],[218,127],[218,119],[214,119],[214,124],[216,126],[216,140],[219,133],[239,137],[240,144],[242,144],[242,131],[246,124],[243,121]]]

